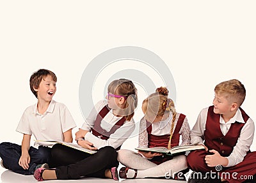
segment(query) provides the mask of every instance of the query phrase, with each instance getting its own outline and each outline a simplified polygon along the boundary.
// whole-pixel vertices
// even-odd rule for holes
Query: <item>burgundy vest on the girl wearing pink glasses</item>
[[[93,128],[91,128],[92,134],[95,136],[98,136],[99,138],[101,138],[103,140],[108,140],[109,136],[112,133],[115,133],[116,129],[120,128],[125,122],[125,117],[122,117],[118,122],[116,122],[116,124],[110,129],[110,131],[106,131],[105,129],[102,129],[100,126],[100,122],[107,115],[107,113],[109,111],[110,110],[108,108],[108,105],[104,106],[102,108],[102,110],[100,110],[100,112],[98,113],[96,120],[94,122]],[[120,147],[121,147],[121,145],[120,145]],[[120,147],[116,148],[116,150],[119,150]]]

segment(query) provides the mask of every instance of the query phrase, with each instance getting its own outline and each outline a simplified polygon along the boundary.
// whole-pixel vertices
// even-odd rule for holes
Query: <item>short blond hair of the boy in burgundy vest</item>
[[[246,96],[244,85],[236,79],[221,82],[216,85],[214,92],[216,94],[224,94],[225,98],[232,103],[237,103],[238,106],[242,105]]]

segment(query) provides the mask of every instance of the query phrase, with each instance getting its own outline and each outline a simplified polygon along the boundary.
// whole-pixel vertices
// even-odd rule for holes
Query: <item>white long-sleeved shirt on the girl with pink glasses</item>
[[[91,128],[94,126],[94,122],[96,120],[98,113],[107,104],[108,103],[104,100],[99,101],[93,107],[92,112],[86,118],[86,122],[84,122],[81,129],[90,131]],[[115,115],[113,115],[113,110],[111,109],[107,113],[107,115],[104,117],[104,119],[102,119],[102,121],[100,122],[100,126],[102,129],[106,131],[110,131],[113,125],[116,124],[116,122],[118,122],[121,118],[122,117],[116,117]],[[108,140],[102,140],[97,136],[93,135],[92,133],[86,133],[86,135],[84,136],[84,139],[88,140],[89,142],[92,142],[93,146],[97,147],[97,149],[100,149],[101,147],[105,147],[108,145],[116,149],[117,147],[122,145],[122,143],[124,143],[125,140],[127,140],[127,138],[129,138],[129,136],[132,134],[134,129],[135,129],[135,123],[132,118],[131,121],[125,121],[124,124],[115,131],[115,133],[109,135]]]

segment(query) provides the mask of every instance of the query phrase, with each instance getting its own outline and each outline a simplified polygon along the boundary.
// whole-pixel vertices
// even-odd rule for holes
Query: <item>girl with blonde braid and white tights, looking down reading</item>
[[[186,115],[177,113],[168,89],[159,87],[142,103],[145,116],[140,121],[139,147],[171,147],[190,144],[190,128]],[[179,143],[180,135],[182,143]],[[134,152],[121,149],[118,161],[122,179],[166,177],[186,180],[182,173],[188,170],[186,156],[164,156],[155,152]],[[184,170],[184,171],[182,171]],[[180,172],[178,174],[178,172]]]

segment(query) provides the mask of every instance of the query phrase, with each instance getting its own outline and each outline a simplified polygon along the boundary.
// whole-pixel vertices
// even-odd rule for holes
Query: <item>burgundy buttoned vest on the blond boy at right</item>
[[[215,149],[220,153],[221,156],[227,157],[233,151],[244,123],[237,121],[234,122],[231,124],[228,133],[223,136],[220,129],[220,114],[214,113],[213,108],[214,106],[209,106],[208,108],[204,131],[205,145],[208,147],[208,149]],[[241,110],[244,122],[248,121],[250,117],[243,111],[242,108],[239,109]]]

